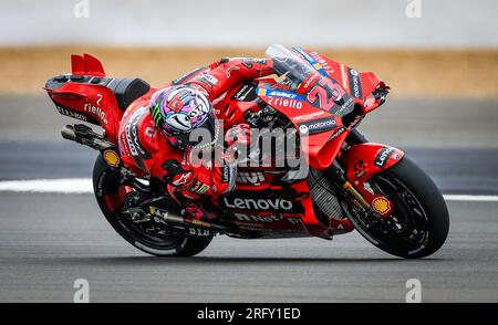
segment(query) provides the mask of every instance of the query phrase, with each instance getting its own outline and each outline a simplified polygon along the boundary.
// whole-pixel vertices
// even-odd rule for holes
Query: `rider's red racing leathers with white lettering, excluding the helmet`
[[[187,73],[169,85],[185,84],[195,87],[212,103],[235,85],[272,73],[271,60],[221,59],[209,66]],[[123,164],[138,176],[151,175],[165,181],[169,193],[191,216],[200,218],[203,213],[197,209],[197,202],[203,198],[210,198],[209,201],[217,206],[219,196],[232,189],[236,168],[227,164],[193,166],[190,150],[172,146],[156,127],[148,111],[153,93],[135,101],[123,116],[117,137]]]

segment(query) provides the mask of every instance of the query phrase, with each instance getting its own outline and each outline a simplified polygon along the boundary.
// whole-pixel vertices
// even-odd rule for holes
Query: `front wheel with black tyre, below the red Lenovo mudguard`
[[[394,209],[382,222],[366,221],[353,206],[349,219],[371,243],[393,255],[425,258],[445,242],[449,230],[446,202],[432,179],[406,156],[369,180]]]

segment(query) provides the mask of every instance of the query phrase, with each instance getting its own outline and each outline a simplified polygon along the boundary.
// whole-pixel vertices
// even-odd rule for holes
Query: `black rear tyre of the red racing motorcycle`
[[[120,187],[121,174],[105,162],[102,155],[95,160],[93,168],[93,189],[98,207],[114,230],[135,248],[155,256],[193,256],[205,250],[212,240],[208,237],[186,237],[183,232],[172,232],[170,238],[148,239],[145,233],[133,227],[131,221],[120,212],[108,208],[105,195],[115,193]]]

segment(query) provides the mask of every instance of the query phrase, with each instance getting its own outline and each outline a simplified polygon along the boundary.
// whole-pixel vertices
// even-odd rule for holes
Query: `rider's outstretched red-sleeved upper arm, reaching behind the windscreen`
[[[242,81],[273,73],[273,61],[271,59],[221,59],[210,64],[207,72],[188,84],[200,86],[214,101]]]

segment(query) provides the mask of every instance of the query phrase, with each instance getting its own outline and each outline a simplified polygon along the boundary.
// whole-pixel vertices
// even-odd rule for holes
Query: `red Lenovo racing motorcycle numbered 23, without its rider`
[[[123,114],[156,90],[141,78],[106,76],[89,54],[72,55],[72,73],[46,82],[59,113],[103,128],[66,125],[62,136],[100,151],[94,192],[112,227],[158,256],[195,255],[215,234],[330,240],[353,230],[393,255],[416,259],[436,252],[449,229],[442,193],[402,150],[369,143],[357,130],[384,103],[388,87],[375,74],[315,51],[271,45],[267,54],[279,76],[235,86],[214,104],[217,116],[227,127],[248,123],[287,130],[272,139],[273,151],[294,135],[307,168],[240,167],[216,221],[185,218],[160,180],[138,178],[121,161],[116,135]]]

